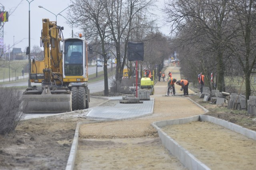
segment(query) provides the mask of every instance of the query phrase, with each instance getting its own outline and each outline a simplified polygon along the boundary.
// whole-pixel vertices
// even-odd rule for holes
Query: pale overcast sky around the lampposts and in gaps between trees
[[[32,0],[28,0],[31,2]],[[21,48],[22,51],[28,46],[28,10],[29,3],[26,0],[0,0],[1,6],[4,6],[4,10],[9,12],[8,22],[4,24],[4,44],[8,47],[10,45],[10,51],[14,45],[15,48]],[[161,8],[164,0],[158,0],[158,7]],[[42,18],[49,18],[50,21],[55,21],[56,16],[62,10],[70,5],[70,0],[34,0],[30,3],[30,45],[31,48],[34,45],[40,46],[40,36],[42,30]],[[38,6],[43,6],[50,12]],[[72,7],[70,7],[72,8]],[[67,17],[69,8],[63,11],[61,14]],[[159,10],[154,12],[158,17],[162,16]],[[69,38],[72,35],[71,25],[68,25],[67,20],[62,16],[57,16],[57,25],[64,26],[62,31],[64,38]],[[159,18],[159,21],[161,18]],[[162,25],[159,22],[159,26]],[[73,25],[74,34],[78,34],[79,30]],[[168,28],[162,28],[160,31],[163,34],[168,34]],[[75,37],[75,36],[74,36]]]

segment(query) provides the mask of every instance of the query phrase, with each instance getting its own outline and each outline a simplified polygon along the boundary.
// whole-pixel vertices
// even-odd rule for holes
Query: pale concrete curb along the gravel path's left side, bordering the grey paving
[[[104,99],[107,99],[106,97],[102,97]],[[100,99],[102,99],[100,98]],[[79,129],[80,129],[80,125],[83,125],[83,124],[91,124],[91,123],[102,123],[102,122],[113,122],[113,121],[122,121],[122,120],[127,120],[127,119],[135,119],[135,118],[139,118],[139,117],[145,117],[147,115],[151,115],[154,111],[154,98],[153,99],[153,103],[152,103],[152,108],[151,108],[151,111],[150,113],[147,113],[147,114],[144,114],[144,115],[140,115],[140,116],[137,116],[137,117],[132,117],[132,118],[124,118],[124,119],[108,119],[108,120],[100,120],[100,121],[94,121],[94,122],[86,122],[86,123],[83,123],[83,122],[78,122],[77,125],[76,125],[76,131],[75,131],[75,135],[74,135],[74,138],[73,138],[73,142],[72,142],[72,145],[71,145],[71,149],[70,149],[70,154],[68,156],[68,161],[67,161],[67,165],[66,165],[66,170],[74,170],[74,166],[75,166],[75,160],[76,160],[76,151],[77,151],[77,148],[78,148],[78,140],[79,140]],[[108,101],[108,100],[107,100]],[[106,101],[102,102],[102,103],[105,103]],[[91,118],[91,117],[90,117]]]

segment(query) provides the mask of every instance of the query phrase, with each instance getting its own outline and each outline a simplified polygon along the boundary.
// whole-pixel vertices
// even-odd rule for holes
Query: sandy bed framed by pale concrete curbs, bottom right
[[[256,141],[209,122],[162,130],[212,170],[255,170]]]

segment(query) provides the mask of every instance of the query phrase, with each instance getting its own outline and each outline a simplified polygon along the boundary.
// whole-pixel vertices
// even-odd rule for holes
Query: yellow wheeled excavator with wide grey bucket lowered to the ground
[[[40,42],[44,60],[30,60],[30,82],[41,86],[24,91],[23,113],[63,113],[89,108],[87,42],[82,36],[63,40],[63,27],[56,24],[42,19]]]

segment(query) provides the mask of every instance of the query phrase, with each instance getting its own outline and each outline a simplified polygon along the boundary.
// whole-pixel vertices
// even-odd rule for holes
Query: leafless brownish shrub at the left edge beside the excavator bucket
[[[0,134],[8,134],[16,128],[23,116],[22,92],[0,88]]]

